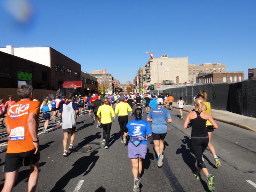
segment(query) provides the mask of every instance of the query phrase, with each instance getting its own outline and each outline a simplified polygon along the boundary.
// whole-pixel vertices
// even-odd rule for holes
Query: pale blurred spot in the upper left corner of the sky
[[[3,0],[4,23],[14,33],[29,35],[35,28],[35,7],[29,0]]]

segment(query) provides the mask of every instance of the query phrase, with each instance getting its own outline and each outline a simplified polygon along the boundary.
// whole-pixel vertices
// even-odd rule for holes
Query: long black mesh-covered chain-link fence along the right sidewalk
[[[196,92],[204,90],[207,92],[207,101],[211,103],[212,109],[230,111],[256,118],[256,79],[232,84],[185,85],[159,90],[159,92],[163,95],[166,92],[172,94],[176,102],[182,97],[185,103],[193,105]],[[155,90],[149,93],[157,94],[157,92]]]

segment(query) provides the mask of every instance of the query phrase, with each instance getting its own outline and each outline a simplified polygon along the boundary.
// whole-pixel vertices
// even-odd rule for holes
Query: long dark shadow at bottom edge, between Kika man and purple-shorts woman
[[[98,151],[93,151],[90,156],[83,156],[78,159],[72,165],[72,169],[70,169],[65,175],[60,178],[60,180],[57,181],[57,183],[50,192],[61,192],[68,185],[68,182],[71,179],[76,178],[83,173],[83,176],[87,175],[99,159],[99,156],[95,156],[97,153]]]

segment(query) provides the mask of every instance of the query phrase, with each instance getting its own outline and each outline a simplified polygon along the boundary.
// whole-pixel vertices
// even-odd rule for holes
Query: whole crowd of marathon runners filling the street
[[[31,174],[29,177],[28,191],[36,190],[38,179],[38,161],[39,161],[39,140],[38,117],[39,111],[43,114],[44,128],[43,132],[48,133],[49,121],[61,118],[57,127],[63,129],[63,156],[67,156],[68,150],[74,151],[73,142],[76,134],[76,119],[80,115],[89,115],[96,121],[96,128],[102,127],[104,148],[109,148],[109,139],[112,126],[112,118],[118,114],[118,123],[120,126],[120,138],[122,143],[128,143],[128,156],[132,163],[132,173],[134,176],[134,192],[140,191],[142,159],[147,154],[147,140],[152,136],[154,150],[157,154],[157,166],[162,167],[164,159],[164,139],[167,135],[167,123],[172,122],[169,110],[173,110],[173,96],[168,92],[163,95],[155,94],[91,94],[75,96],[73,93],[67,96],[57,96],[55,98],[46,97],[40,103],[33,95],[33,88],[30,85],[22,85],[18,89],[20,101],[17,103],[12,97],[5,102],[0,99],[1,123],[4,126],[4,113],[6,116],[6,131],[9,135],[9,142],[6,153],[4,172],[6,179],[2,191],[11,191],[15,182],[15,177],[19,168],[24,165],[30,165]],[[169,102],[169,105],[168,105]],[[180,119],[183,119],[182,110],[184,100],[182,97],[177,101],[179,104]],[[204,164],[203,152],[208,147],[213,155],[216,167],[220,167],[220,160],[216,155],[215,149],[210,140],[212,131],[218,128],[218,125],[212,118],[212,108],[207,102],[205,91],[197,92],[194,97],[195,109],[189,111],[184,121],[184,128],[192,128],[191,143],[197,160],[197,171],[195,177],[201,180],[200,172],[207,177],[208,188],[215,190],[214,176],[210,174]],[[22,114],[17,113],[23,106]],[[133,110],[133,106],[136,106]],[[147,121],[142,120],[142,107],[146,109]],[[167,110],[169,109],[169,110]],[[26,113],[24,113],[24,111]],[[129,114],[128,114],[129,113]],[[128,115],[134,116],[134,120],[128,121]],[[152,122],[151,126],[149,122]],[[18,133],[20,136],[17,136]],[[70,144],[67,150],[68,137],[70,135]],[[19,145],[19,148],[15,146]],[[27,147],[29,146],[29,147]]]

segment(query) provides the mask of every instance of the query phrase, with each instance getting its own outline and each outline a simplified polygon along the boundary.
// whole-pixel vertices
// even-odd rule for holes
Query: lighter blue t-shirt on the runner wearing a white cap
[[[162,107],[151,109],[148,113],[148,118],[152,119],[152,132],[153,133],[166,133],[167,132],[167,119],[172,118],[169,111]]]

